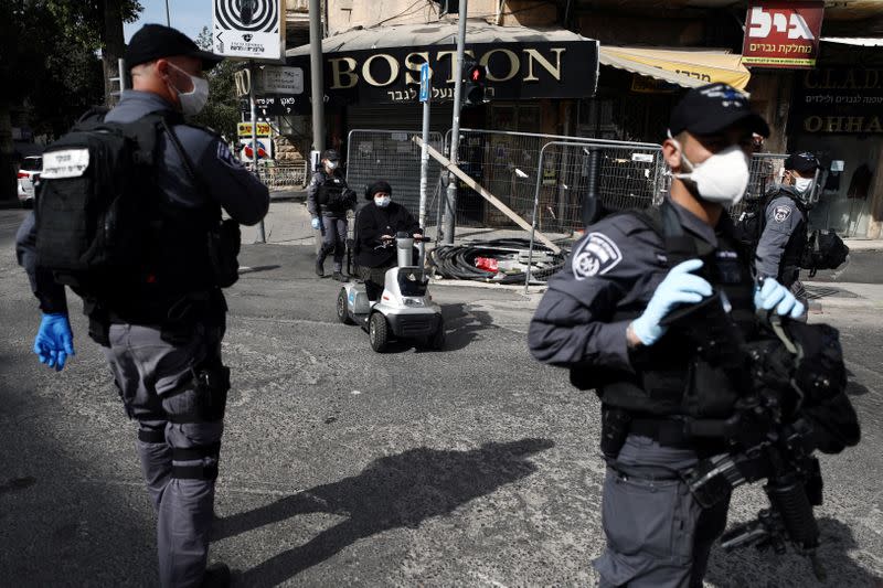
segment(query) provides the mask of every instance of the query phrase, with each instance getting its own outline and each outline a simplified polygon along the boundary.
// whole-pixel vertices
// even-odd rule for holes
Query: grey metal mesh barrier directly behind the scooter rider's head
[[[354,129],[347,140],[347,183],[359,193],[375,180],[386,180],[393,186],[393,199],[416,217],[421,203],[421,148],[412,140],[421,131]],[[429,133],[429,145],[442,150],[440,132]],[[426,218],[434,225],[438,212],[438,177],[442,167],[429,159]]]

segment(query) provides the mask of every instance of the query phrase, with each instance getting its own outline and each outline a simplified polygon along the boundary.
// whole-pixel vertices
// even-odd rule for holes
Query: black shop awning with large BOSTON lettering
[[[419,68],[427,62],[433,71],[430,128],[449,129],[456,34],[456,24],[433,23],[354,30],[325,39],[329,145],[343,148],[347,132],[357,128],[419,129]],[[557,101],[595,94],[598,44],[566,30],[470,22],[466,54],[487,67],[488,103],[465,108],[464,127],[562,132]],[[288,51],[287,63],[308,72],[309,47]],[[308,88],[292,101],[289,115],[309,114]]]

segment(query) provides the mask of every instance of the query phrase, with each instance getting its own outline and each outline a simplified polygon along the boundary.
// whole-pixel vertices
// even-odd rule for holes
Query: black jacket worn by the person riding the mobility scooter
[[[421,225],[407,209],[391,202],[381,209],[369,202],[355,217],[355,263],[365,267],[384,267],[395,260],[395,247],[381,247],[382,235],[395,236],[400,231],[408,235],[419,233]]]

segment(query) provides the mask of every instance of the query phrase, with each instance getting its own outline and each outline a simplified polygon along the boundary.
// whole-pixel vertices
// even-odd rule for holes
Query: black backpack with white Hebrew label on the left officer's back
[[[88,289],[136,265],[156,217],[153,165],[166,116],[129,124],[87,113],[43,154],[36,199],[38,263],[56,281]]]

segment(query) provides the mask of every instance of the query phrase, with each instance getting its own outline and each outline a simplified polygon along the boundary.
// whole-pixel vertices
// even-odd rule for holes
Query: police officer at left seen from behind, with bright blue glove
[[[226,565],[206,563],[228,388],[221,363],[226,304],[205,278],[208,238],[198,227],[216,222],[222,207],[253,225],[266,214],[269,194],[219,136],[181,119],[205,105],[203,72],[220,56],[174,29],[148,24],[132,35],[125,61],[134,89],[123,93],[105,120],[131,122],[150,113],[178,120],[170,127],[174,137],[162,131],[157,138],[162,228],[149,279],[119,285],[114,298],[85,298],[84,309],[125,408],[138,421],[137,450],[158,516],[161,585],[225,586]],[[35,239],[31,215],[19,231],[17,253],[43,311],[34,352],[60,371],[74,353],[65,290],[39,267]]]

